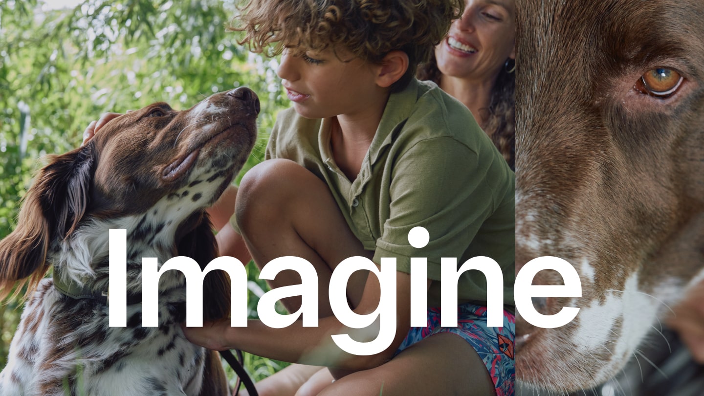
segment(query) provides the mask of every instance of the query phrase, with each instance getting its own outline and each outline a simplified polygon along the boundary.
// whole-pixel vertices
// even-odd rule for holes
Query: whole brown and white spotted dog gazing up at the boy
[[[228,393],[218,356],[183,336],[180,271],[160,278],[158,327],[142,327],[142,258],[217,256],[206,208],[249,156],[259,111],[244,87],[184,111],[156,103],[49,160],[0,241],[2,295],[28,290],[0,395]],[[127,230],[126,327],[108,326],[110,229]],[[203,290],[204,317],[227,316],[227,276],[213,271]]]

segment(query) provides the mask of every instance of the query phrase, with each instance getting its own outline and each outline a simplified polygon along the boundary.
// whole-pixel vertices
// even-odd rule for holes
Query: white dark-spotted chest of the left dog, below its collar
[[[127,307],[127,328],[110,328],[105,305],[65,297],[53,280],[42,280],[25,307],[11,345],[13,370],[0,390],[3,395],[65,395],[68,389],[85,395],[197,394],[205,350],[175,326],[183,320],[183,294],[179,289],[160,296],[165,301],[158,328],[142,327],[139,304]]]

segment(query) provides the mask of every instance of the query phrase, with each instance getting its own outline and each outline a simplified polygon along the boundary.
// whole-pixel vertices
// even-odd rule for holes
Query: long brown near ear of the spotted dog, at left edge
[[[88,204],[93,169],[92,142],[54,156],[23,199],[17,228],[0,241],[0,301],[18,281],[29,291],[44,277],[51,241],[75,230]]]

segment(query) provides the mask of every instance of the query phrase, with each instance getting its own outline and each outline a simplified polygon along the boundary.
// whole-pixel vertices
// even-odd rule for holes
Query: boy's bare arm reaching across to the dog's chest
[[[372,313],[377,309],[381,293],[377,278],[370,276],[367,278],[362,301],[353,311],[356,314]],[[184,327],[184,333],[191,342],[210,349],[243,349],[270,359],[359,371],[389,361],[398,345],[406,338],[409,328],[410,275],[397,272],[396,332],[391,345],[379,354],[358,356],[337,347],[331,335],[348,333],[353,339],[360,340],[367,329],[347,328],[334,316],[321,318],[318,327],[307,328],[302,326],[301,320],[287,328],[270,328],[258,320],[250,320],[246,328],[231,328],[230,319],[226,319],[206,323],[202,328]]]

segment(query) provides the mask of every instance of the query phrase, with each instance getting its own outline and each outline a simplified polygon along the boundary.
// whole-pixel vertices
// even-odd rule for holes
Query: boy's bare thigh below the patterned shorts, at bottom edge
[[[319,393],[321,396],[495,394],[484,361],[469,343],[451,333],[431,335],[382,366],[352,373]]]

